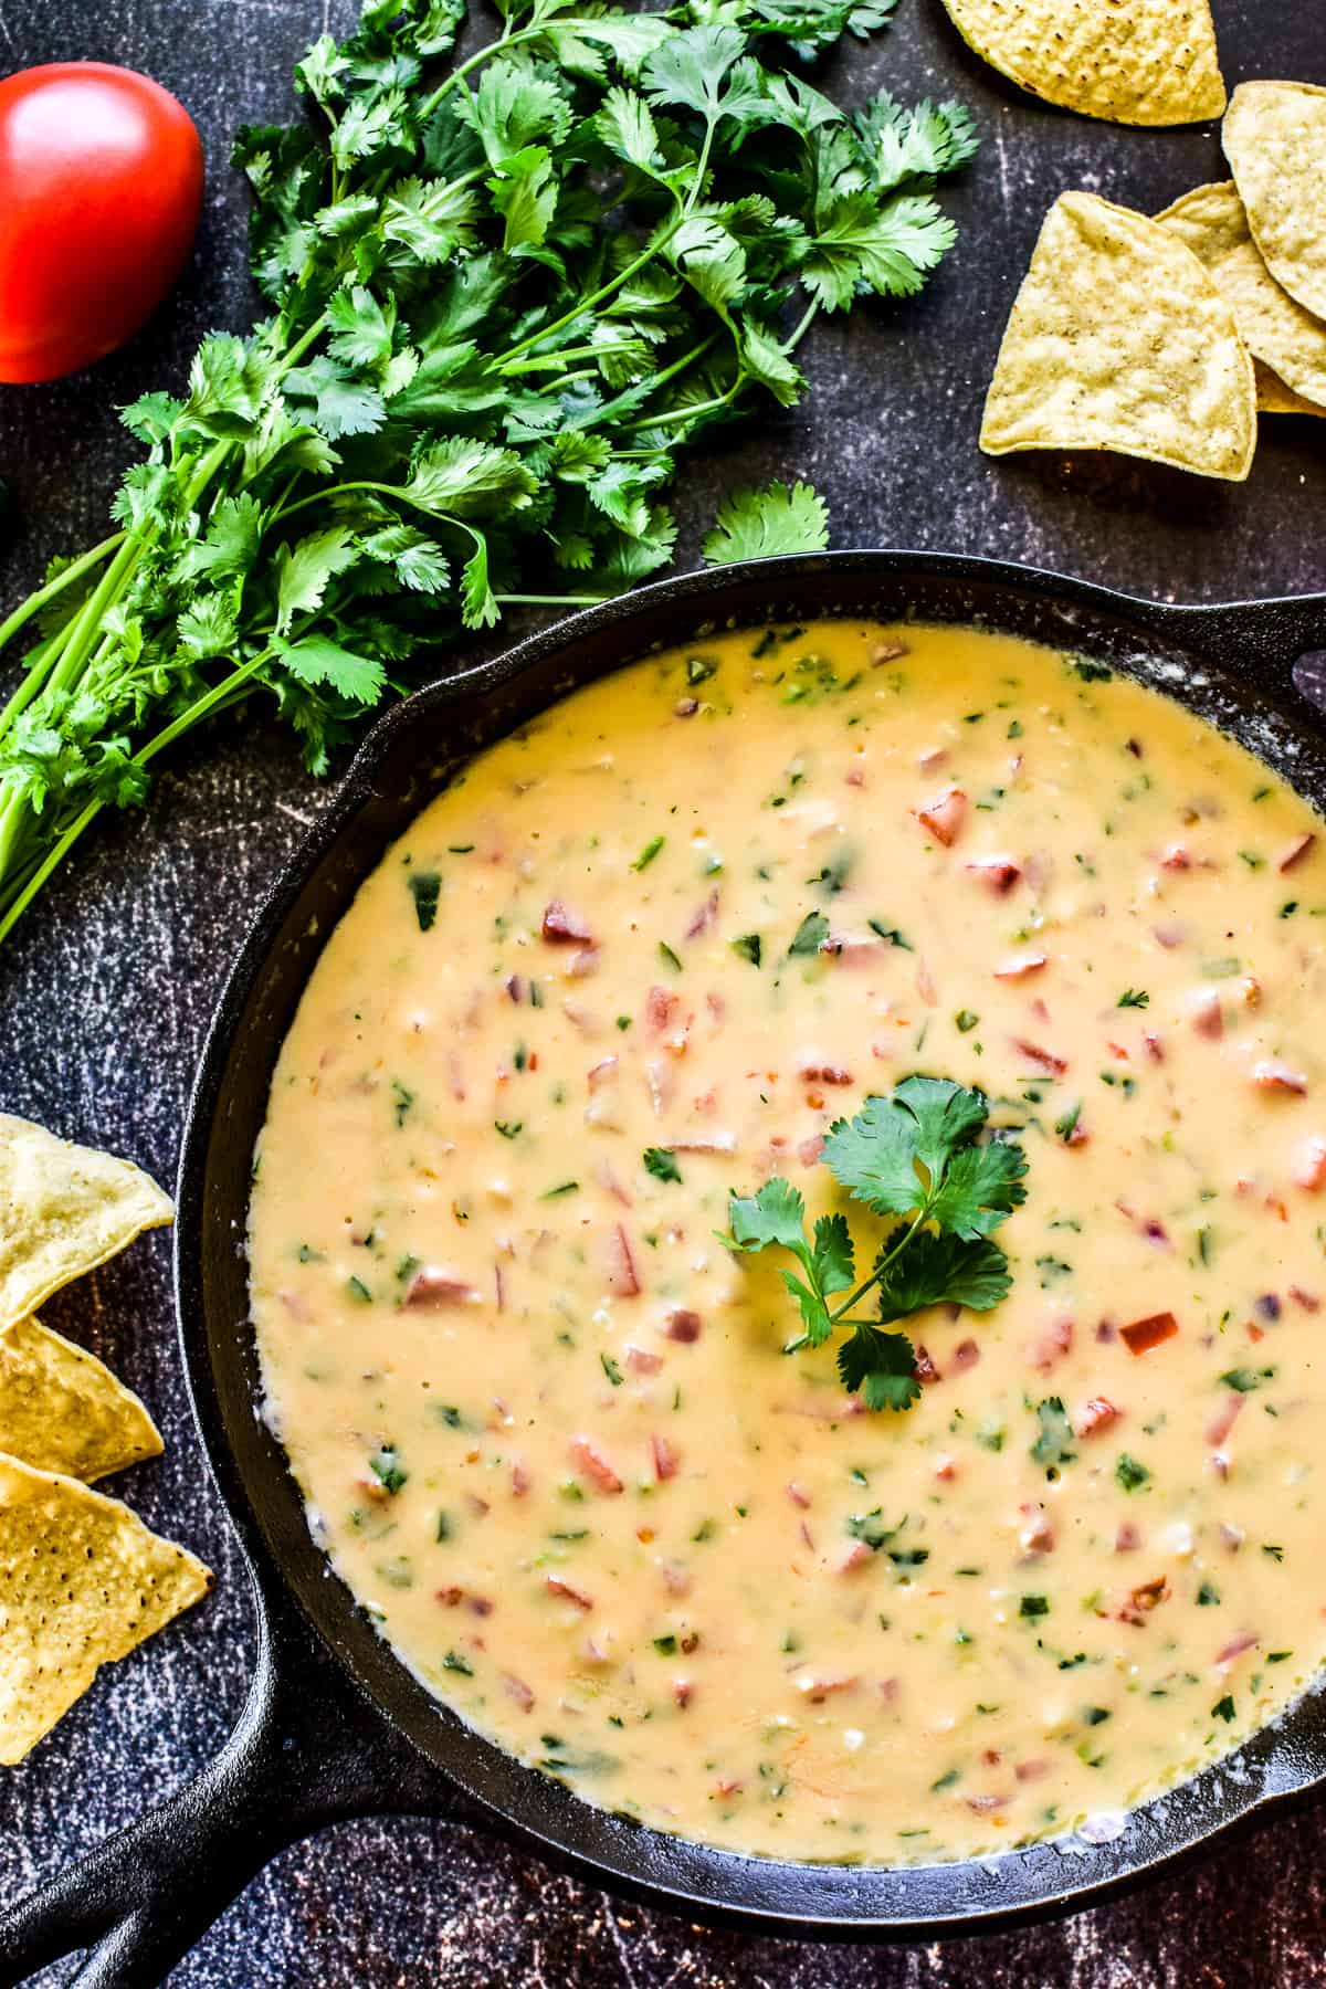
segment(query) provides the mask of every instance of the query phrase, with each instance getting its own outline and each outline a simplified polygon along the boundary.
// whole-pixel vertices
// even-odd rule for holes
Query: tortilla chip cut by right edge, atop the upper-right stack
[[[1223,143],[1266,269],[1326,318],[1326,90],[1241,84]]]

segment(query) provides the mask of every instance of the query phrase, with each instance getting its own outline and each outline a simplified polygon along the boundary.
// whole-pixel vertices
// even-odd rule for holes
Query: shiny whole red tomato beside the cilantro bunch
[[[109,62],[0,82],[0,380],[121,346],[183,269],[203,207],[189,111]]]

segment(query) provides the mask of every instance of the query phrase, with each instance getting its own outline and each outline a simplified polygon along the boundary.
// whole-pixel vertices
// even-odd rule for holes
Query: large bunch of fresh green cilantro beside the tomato
[[[793,406],[821,310],[920,288],[966,111],[845,111],[795,74],[897,0],[366,0],[296,70],[308,121],[247,127],[270,314],[123,410],[115,531],[8,619],[0,939],[101,808],[262,694],[320,772],[388,692],[509,603],[579,605],[672,553],[680,452]],[[813,491],[734,499],[706,545],[825,543]]]

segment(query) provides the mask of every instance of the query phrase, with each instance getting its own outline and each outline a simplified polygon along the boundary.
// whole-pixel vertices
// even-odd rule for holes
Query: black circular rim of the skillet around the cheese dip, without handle
[[[1171,1870],[1175,1864],[1199,1856],[1217,1836],[1266,1816],[1290,1800],[1304,1800],[1326,1778],[1326,1717],[1312,1718],[1314,1689],[1310,1687],[1288,1713],[1270,1726],[1252,1734],[1241,1750],[1203,1768],[1191,1780],[1177,1784],[1169,1794],[1153,1798],[1139,1810],[1129,1812],[1129,1820],[1119,1838],[1093,1846],[1074,1846],[1072,1858],[1056,1840],[1042,1840],[1022,1850],[1000,1852],[988,1860],[960,1860],[934,1866],[855,1866],[855,1864],[803,1864],[769,1858],[751,1858],[708,1846],[698,1840],[670,1838],[648,1826],[628,1822],[612,1812],[598,1810],[573,1796],[563,1784],[525,1768],[515,1756],[505,1754],[485,1740],[435,1701],[394,1657],[390,1645],[368,1625],[368,1619],[350,1599],[350,1591],[338,1577],[330,1575],[330,1563],[320,1549],[302,1536],[302,1551],[312,1555],[326,1589],[340,1591],[350,1601],[350,1615],[360,1631],[370,1639],[372,1659],[364,1635],[356,1633],[356,1649],[350,1637],[328,1627],[326,1609],[308,1593],[308,1581],[300,1581],[288,1565],[286,1551],[272,1539],[272,1528],[264,1520],[262,1502],[250,1488],[239,1458],[239,1438],[231,1416],[221,1402],[215,1360],[243,1362],[243,1349],[237,1345],[252,1333],[247,1319],[237,1327],[221,1329],[221,1351],[217,1335],[207,1325],[207,1275],[205,1231],[209,1223],[207,1185],[209,1152],[219,1134],[217,1110],[223,1104],[223,1084],[237,1050],[237,1034],[245,1010],[262,987],[264,977],[274,973],[274,957],[282,931],[310,881],[320,875],[334,857],[348,831],[360,821],[374,798],[378,770],[390,760],[392,748],[410,728],[425,720],[445,718],[449,708],[459,708],[467,700],[487,700],[495,692],[517,686],[551,658],[569,656],[586,634],[602,631],[626,631],[632,625],[648,623],[650,611],[676,603],[692,605],[698,611],[708,607],[722,615],[726,603],[753,589],[765,597],[777,597],[779,589],[795,591],[809,583],[821,587],[835,575],[847,581],[879,581],[881,585],[905,585],[912,573],[926,583],[962,583],[992,589],[1010,597],[1018,605],[1046,605],[1066,611],[1066,629],[1074,617],[1095,619],[1097,625],[1133,629],[1143,644],[1155,650],[1169,650],[1175,660],[1213,668],[1217,682],[1237,692],[1237,702],[1252,712],[1264,712],[1302,742],[1306,734],[1308,750],[1316,764],[1326,768],[1326,738],[1316,726],[1304,720],[1302,712],[1286,708],[1290,694],[1288,662],[1294,648],[1284,656],[1282,682],[1266,692],[1248,684],[1229,662],[1213,662],[1211,648],[1221,644],[1221,631],[1229,633],[1229,623],[1237,617],[1272,617],[1276,609],[1292,603],[1237,603],[1213,607],[1173,607],[1167,603],[1147,603],[1113,589],[1095,587],[1066,575],[1044,569],[1022,567],[1008,561],[984,561],[966,555],[912,553],[912,551],[849,551],[825,555],[791,555],[771,561],[746,561],[738,567],[714,569],[696,575],[678,575],[646,589],[636,589],[626,597],[592,607],[549,629],[537,631],[497,658],[481,662],[455,676],[415,692],[404,704],[388,710],[370,730],[356,754],[340,790],[318,817],[308,835],[300,841],[292,857],[282,865],[274,885],[256,909],[250,931],[237,955],[217,1000],[213,1022],[199,1058],[195,1090],[189,1102],[185,1144],[179,1177],[179,1223],[177,1223],[177,1309],[179,1335],[185,1360],[185,1376],[203,1440],[209,1468],[219,1486],[221,1498],[237,1526],[260,1591],[260,1607],[270,1603],[270,1587],[278,1585],[306,1631],[336,1667],[358,1689],[358,1695],[372,1707],[372,1717],[384,1720],[404,1734],[439,1770],[439,1780],[449,1782],[477,1800],[485,1810],[495,1812],[497,1828],[515,1836],[543,1858],[571,1866],[580,1876],[596,1884],[608,1884],[636,1899],[648,1899],[670,1909],[684,1909],[698,1917],[742,1921],[761,1925],[775,1933],[799,1933],[801,1937],[891,1937],[891,1939],[934,1939],[956,1933],[994,1931],[1028,1919],[1046,1919],[1056,1913],[1079,1909],[1109,1894]],[[765,619],[773,613],[765,607]],[[805,611],[809,613],[809,609]],[[815,613],[831,613],[831,601],[821,601]],[[863,603],[855,603],[851,613],[869,613]],[[749,621],[757,621],[751,613]],[[924,617],[920,617],[924,619]],[[972,617],[966,617],[968,621]],[[954,617],[956,621],[956,617]],[[1322,603],[1322,625],[1326,627],[1326,603]],[[704,625],[704,615],[696,613],[692,625]],[[740,623],[738,623],[740,625]],[[1211,642],[1201,640],[1209,634]],[[668,634],[666,640],[686,640],[684,634]],[[1042,640],[1054,640],[1042,636]],[[1103,644],[1103,634],[1087,633],[1083,646],[1089,650]],[[618,662],[634,654],[648,652],[622,644]],[[1262,658],[1266,662],[1266,658]],[[602,670],[588,676],[606,674]],[[1274,672],[1272,672],[1274,674]],[[1173,686],[1171,686],[1173,688]],[[557,692],[561,694],[561,692]],[[549,700],[539,700],[537,708],[547,708]],[[499,738],[493,730],[491,738]],[[1246,742],[1244,742],[1246,744]],[[1322,774],[1326,780],[1326,772]],[[415,812],[421,802],[415,802]],[[386,841],[380,843],[380,853]],[[366,875],[368,871],[360,871]],[[322,941],[318,941],[320,951]],[[308,977],[300,977],[300,989]],[[298,998],[298,994],[296,994]],[[266,1072],[274,1062],[280,1038],[270,1046]],[[266,1082],[262,1084],[262,1094]],[[252,1402],[249,1404],[252,1410]],[[302,1500],[274,1438],[284,1480],[284,1498],[298,1506],[300,1528]],[[292,1549],[294,1551],[294,1549]],[[346,1609],[340,1607],[344,1619]],[[390,1677],[388,1677],[390,1675]],[[1324,1675],[1326,1677],[1326,1675]],[[384,1689],[386,1679],[386,1689]],[[1320,1687],[1322,1681],[1318,1681]],[[423,1701],[429,1730],[421,1730],[419,1701]],[[1298,1734],[1298,1726],[1312,1728]],[[1175,1830],[1165,1814],[1173,1808],[1201,1810],[1201,1792],[1231,1778],[1231,1762],[1248,1776],[1246,1784],[1237,1784],[1231,1794],[1221,1790],[1221,1802],[1209,1816],[1195,1816]],[[1258,1770],[1258,1772],[1252,1772]],[[1258,1784],[1258,1786],[1252,1786]],[[517,1790],[515,1798],[503,1796],[503,1788]],[[366,1808],[372,1804],[366,1804]],[[1141,1838],[1139,1844],[1133,1840]],[[1062,1840],[1060,1840],[1062,1846]],[[1125,1846],[1127,1852],[1125,1852]],[[678,1870],[680,1868],[680,1870]],[[1056,1884],[1050,1876],[1058,1868],[1060,1878],[1072,1874],[1068,1884]],[[1036,1884],[1008,1884],[1010,1874],[1030,1878]],[[704,1880],[704,1882],[702,1882]],[[984,1880],[984,1884],[982,1884]],[[990,1898],[990,1886],[998,1880],[998,1898]],[[773,1898],[781,1886],[785,1898]],[[964,1888],[974,1890],[962,1898]],[[903,1899],[899,1911],[881,1894],[899,1892]],[[912,1894],[922,1898],[911,1899]],[[924,1898],[928,1894],[944,1896]],[[954,1903],[956,1901],[956,1903]]]

